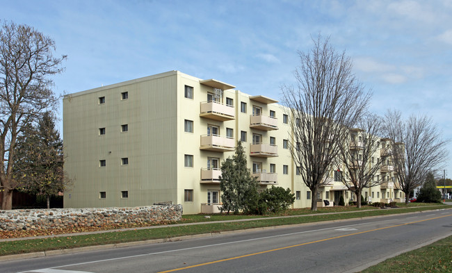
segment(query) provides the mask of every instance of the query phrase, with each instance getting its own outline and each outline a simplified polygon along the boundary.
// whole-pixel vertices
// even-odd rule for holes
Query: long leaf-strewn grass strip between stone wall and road
[[[414,203],[415,204],[415,203]],[[205,215],[184,215],[183,223],[212,221],[209,224],[188,225],[188,226],[164,226],[156,229],[133,229],[128,231],[118,231],[111,233],[97,233],[88,235],[64,235],[62,237],[14,240],[0,242],[0,256],[11,254],[22,254],[37,251],[47,251],[52,249],[70,249],[76,247],[88,247],[92,245],[110,245],[120,242],[134,242],[141,240],[152,240],[159,238],[175,238],[183,235],[194,235],[202,233],[219,233],[222,231],[234,231],[240,229],[253,229],[264,226],[281,226],[287,224],[302,224],[308,222],[322,222],[328,220],[343,220],[357,217],[367,217],[376,215],[391,215],[423,210],[435,210],[444,208],[443,204],[409,204],[407,208],[400,209],[377,209],[364,207],[361,209],[353,207],[333,207],[319,208],[316,213],[309,209],[291,210],[287,215],[300,215],[302,217],[284,217],[278,219],[266,219],[255,215],[211,215],[209,219]],[[432,206],[435,205],[435,206]],[[372,210],[371,210],[372,209]],[[323,214],[322,214],[323,212]],[[325,214],[328,212],[341,212],[336,214]],[[309,215],[314,214],[314,215]],[[239,220],[259,218],[261,220],[246,222],[226,222],[216,223],[220,220]]]

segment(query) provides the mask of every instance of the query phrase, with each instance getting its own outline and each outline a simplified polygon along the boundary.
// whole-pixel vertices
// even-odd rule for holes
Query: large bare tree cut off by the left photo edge
[[[31,124],[58,98],[49,75],[62,72],[66,56],[54,58],[55,42],[34,28],[3,22],[0,29],[0,168],[3,210],[11,209],[15,145],[24,124]]]

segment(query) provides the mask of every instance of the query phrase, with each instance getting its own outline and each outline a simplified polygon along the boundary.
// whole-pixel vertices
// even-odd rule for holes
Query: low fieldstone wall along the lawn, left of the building
[[[182,205],[134,208],[51,208],[0,210],[0,231],[103,226],[114,223],[179,221]]]

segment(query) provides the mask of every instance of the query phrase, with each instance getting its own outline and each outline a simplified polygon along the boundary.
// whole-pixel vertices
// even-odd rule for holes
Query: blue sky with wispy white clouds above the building
[[[294,83],[297,51],[312,48],[311,37],[321,33],[353,59],[357,78],[373,91],[373,112],[426,114],[444,138],[452,134],[449,0],[0,4],[0,19],[37,28],[68,56],[54,77],[57,94],[179,70],[280,99],[280,86]]]

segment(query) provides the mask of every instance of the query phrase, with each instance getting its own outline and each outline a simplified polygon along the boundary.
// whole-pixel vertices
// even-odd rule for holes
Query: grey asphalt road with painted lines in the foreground
[[[357,272],[452,235],[452,210],[0,263],[0,272]]]

